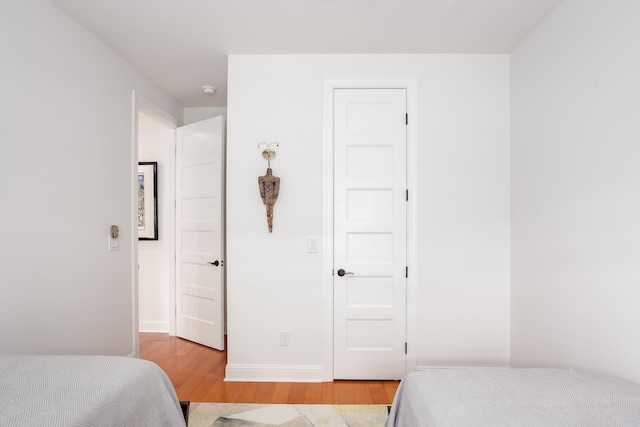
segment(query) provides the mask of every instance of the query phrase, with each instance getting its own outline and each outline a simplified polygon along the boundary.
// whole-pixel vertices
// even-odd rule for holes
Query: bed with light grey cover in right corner
[[[452,368],[407,375],[387,427],[640,426],[640,385],[562,369]]]

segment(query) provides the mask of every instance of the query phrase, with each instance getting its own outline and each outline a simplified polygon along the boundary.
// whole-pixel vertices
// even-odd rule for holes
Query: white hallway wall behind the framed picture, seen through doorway
[[[158,240],[138,242],[140,331],[169,332],[175,274],[175,127],[138,116],[138,161],[158,162]]]

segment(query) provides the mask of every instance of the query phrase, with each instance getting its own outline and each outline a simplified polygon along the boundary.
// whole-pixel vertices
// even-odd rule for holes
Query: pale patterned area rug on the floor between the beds
[[[189,427],[382,427],[387,405],[191,403]]]

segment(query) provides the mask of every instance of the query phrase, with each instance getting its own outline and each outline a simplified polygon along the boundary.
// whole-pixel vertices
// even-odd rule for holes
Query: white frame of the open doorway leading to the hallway
[[[169,128],[173,128],[174,130],[174,138],[173,138],[173,160],[170,162],[170,165],[167,165],[170,170],[167,170],[168,180],[167,183],[169,188],[165,188],[163,190],[168,197],[173,198],[173,205],[175,205],[175,129],[179,125],[179,121],[176,117],[159,107],[153,101],[149,100],[142,94],[137,91],[132,91],[132,151],[131,151],[131,253],[133,254],[131,260],[131,274],[132,274],[132,303],[133,303],[133,348],[134,348],[134,356],[140,356],[140,328],[139,328],[139,306],[138,306],[138,216],[136,214],[135,206],[138,205],[138,185],[137,180],[134,179],[138,174],[138,113],[145,113],[154,119],[162,122],[167,125]],[[170,291],[169,291],[169,335],[176,334],[176,314],[175,314],[175,301],[176,301],[176,290],[175,290],[175,257],[176,257],[176,242],[175,242],[175,209],[170,209],[169,212],[165,214],[167,217],[167,221],[169,224],[170,232],[168,236],[164,238],[169,240],[169,247],[171,250],[168,254],[167,262],[169,263],[170,269]]]

